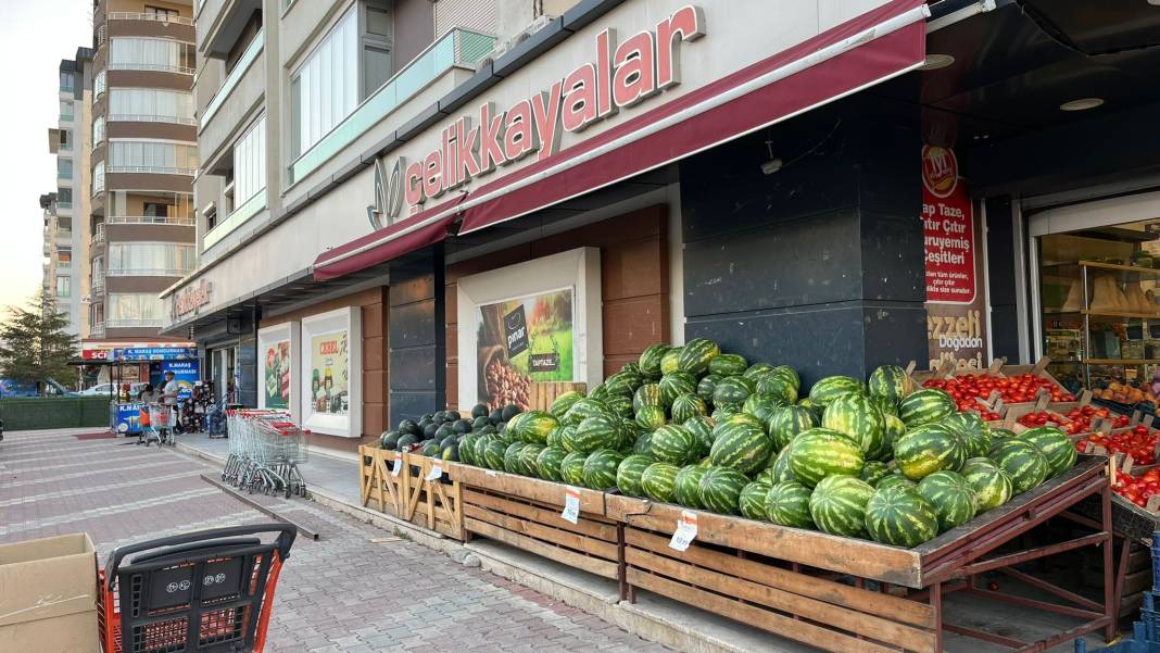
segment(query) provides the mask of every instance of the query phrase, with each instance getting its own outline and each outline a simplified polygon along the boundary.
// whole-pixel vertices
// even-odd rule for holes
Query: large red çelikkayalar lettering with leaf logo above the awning
[[[550,88],[498,110],[485,102],[472,116],[449,123],[440,147],[422,159],[398,158],[392,174],[382,160],[376,166],[375,202],[368,208],[371,225],[390,222],[405,202],[412,209],[441,197],[478,176],[535,155],[556,154],[565,133],[593,124],[654,97],[680,84],[680,45],[705,34],[699,7],[686,5],[657,23],[616,43],[616,32],[596,35],[594,60],[556,80]]]

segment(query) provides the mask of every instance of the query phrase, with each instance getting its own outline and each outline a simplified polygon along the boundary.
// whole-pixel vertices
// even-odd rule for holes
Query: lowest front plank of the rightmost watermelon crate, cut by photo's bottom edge
[[[825,651],[857,651],[860,653],[898,653],[897,648],[882,646],[864,639],[857,639],[827,627],[804,621],[796,621],[784,615],[770,612],[753,605],[739,603],[703,589],[681,585],[679,582],[652,575],[640,569],[629,568],[629,585],[655,592],[662,596],[695,605],[702,610],[716,612],[723,617],[760,627],[761,630],[805,641]]]

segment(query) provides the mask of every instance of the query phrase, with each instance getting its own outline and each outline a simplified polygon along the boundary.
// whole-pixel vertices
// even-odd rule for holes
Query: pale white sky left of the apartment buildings
[[[0,305],[23,303],[41,284],[39,197],[57,188],[60,59],[93,45],[93,0],[0,0]],[[73,264],[87,264],[75,261]]]

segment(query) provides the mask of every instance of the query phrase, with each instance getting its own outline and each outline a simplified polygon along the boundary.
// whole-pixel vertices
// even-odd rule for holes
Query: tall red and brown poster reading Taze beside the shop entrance
[[[927,346],[930,369],[985,369],[987,356],[983,225],[955,152],[922,147],[922,231],[926,245]]]

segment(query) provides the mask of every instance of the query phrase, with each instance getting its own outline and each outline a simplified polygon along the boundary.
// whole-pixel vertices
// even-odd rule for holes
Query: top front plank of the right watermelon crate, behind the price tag
[[[681,515],[680,506],[608,495],[610,518],[645,530],[672,534]],[[919,556],[913,550],[886,546],[864,539],[781,527],[697,511],[697,538],[780,560],[800,563],[850,575],[922,588]]]

